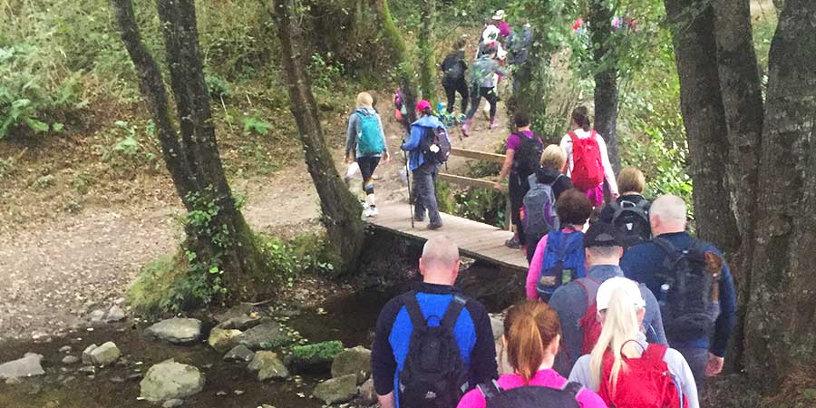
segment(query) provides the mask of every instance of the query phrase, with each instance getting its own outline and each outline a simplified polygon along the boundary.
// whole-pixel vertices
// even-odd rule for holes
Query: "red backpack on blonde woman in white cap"
[[[614,390],[610,379],[615,356],[607,350],[603,384],[597,394],[615,408],[688,408],[688,401],[681,396],[674,375],[663,361],[666,349],[665,345],[648,345],[640,358],[623,357],[626,368],[621,367],[617,374]]]

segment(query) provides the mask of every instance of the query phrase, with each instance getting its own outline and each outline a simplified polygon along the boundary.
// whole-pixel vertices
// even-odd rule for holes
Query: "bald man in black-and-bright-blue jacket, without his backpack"
[[[439,317],[445,316],[452,307],[454,296],[461,298],[459,290],[453,287],[459,275],[459,248],[450,239],[429,239],[419,267],[423,282],[415,291],[394,297],[377,318],[371,365],[374,389],[383,408],[400,406],[400,373],[405,367],[413,334],[406,296],[415,296],[428,325],[439,325]],[[452,332],[467,371],[466,388],[498,377],[491,318],[481,303],[466,299],[452,324]]]

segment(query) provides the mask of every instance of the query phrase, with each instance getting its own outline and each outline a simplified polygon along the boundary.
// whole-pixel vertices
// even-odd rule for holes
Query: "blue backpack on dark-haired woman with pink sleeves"
[[[552,231],[547,235],[544,259],[536,285],[539,298],[545,302],[561,285],[587,276],[584,259],[584,233],[565,234]]]

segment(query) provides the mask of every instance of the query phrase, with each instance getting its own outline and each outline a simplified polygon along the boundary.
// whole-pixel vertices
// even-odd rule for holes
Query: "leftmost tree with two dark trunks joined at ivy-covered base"
[[[180,117],[181,141],[170,119],[167,92],[158,64],[141,42],[131,0],[112,0],[114,18],[140,77],[140,89],[156,123],[164,160],[189,213],[208,210],[211,219],[185,227],[185,246],[196,253],[213,284],[228,288],[231,300],[253,298],[253,277],[262,262],[252,231],[236,209],[221,166],[215,128],[209,112],[199,53],[195,5],[191,0],[159,0],[157,8],[165,33],[171,86]],[[216,273],[211,273],[214,268]]]

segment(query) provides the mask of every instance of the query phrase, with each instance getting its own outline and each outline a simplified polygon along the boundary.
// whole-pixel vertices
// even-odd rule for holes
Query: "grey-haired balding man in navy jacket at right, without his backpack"
[[[664,195],[657,198],[649,209],[649,223],[655,238],[665,238],[678,249],[687,249],[695,243],[685,232],[685,202],[683,199]],[[711,251],[718,257],[723,254],[707,242],[700,242],[704,251]],[[652,292],[659,294],[665,282],[660,277],[668,271],[665,268],[665,250],[654,242],[646,242],[629,248],[620,261],[620,267],[628,278],[643,282]],[[714,324],[713,341],[707,336],[695,341],[678,342],[669,336],[669,345],[685,356],[685,360],[695,374],[697,387],[701,388],[706,376],[714,376],[723,371],[725,349],[731,335],[736,316],[736,292],[728,265],[723,263],[722,277],[719,281],[720,315]]]

